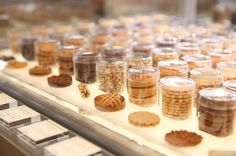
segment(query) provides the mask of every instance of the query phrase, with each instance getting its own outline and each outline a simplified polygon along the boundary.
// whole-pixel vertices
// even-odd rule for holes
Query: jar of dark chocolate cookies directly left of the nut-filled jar
[[[78,52],[73,57],[75,79],[83,83],[96,82],[96,65],[101,61],[101,54],[90,51]]]

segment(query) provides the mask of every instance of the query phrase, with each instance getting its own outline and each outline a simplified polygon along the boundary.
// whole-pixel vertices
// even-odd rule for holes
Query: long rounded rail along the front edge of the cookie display
[[[108,122],[94,121],[96,117],[58,97],[50,95],[30,84],[0,73],[0,90],[25,103],[53,121],[87,138],[116,155],[162,155],[148,147],[111,131]],[[96,119],[99,120],[99,119]],[[106,125],[106,126],[103,126]]]

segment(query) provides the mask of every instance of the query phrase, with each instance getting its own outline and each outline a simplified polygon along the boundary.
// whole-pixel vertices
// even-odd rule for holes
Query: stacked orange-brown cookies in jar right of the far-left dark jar
[[[47,66],[56,63],[56,40],[43,40],[38,41],[37,48],[37,60],[39,65]]]

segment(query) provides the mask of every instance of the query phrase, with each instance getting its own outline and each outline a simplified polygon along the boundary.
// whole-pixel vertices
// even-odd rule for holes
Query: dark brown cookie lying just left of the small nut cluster
[[[71,85],[72,77],[68,74],[53,75],[48,77],[48,84],[54,87],[67,87]]]

